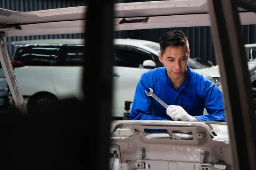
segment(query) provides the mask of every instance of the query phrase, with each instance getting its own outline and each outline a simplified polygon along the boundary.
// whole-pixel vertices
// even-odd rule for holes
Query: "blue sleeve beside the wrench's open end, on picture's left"
[[[147,77],[144,73],[135,90],[134,101],[131,106],[130,120],[168,120],[157,116],[151,116],[149,111],[151,100],[145,94],[145,90],[148,90],[148,88]]]

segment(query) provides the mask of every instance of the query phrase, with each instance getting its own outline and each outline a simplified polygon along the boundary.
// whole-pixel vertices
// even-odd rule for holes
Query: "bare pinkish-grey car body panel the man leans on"
[[[227,124],[222,122],[119,121],[111,125],[111,148],[118,153],[120,170],[228,170],[229,142]]]

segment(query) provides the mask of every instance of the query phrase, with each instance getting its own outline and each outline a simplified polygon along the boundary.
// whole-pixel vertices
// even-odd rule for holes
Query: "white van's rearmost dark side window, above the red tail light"
[[[54,66],[56,64],[58,46],[31,45],[18,47],[13,60],[21,61],[24,65]]]

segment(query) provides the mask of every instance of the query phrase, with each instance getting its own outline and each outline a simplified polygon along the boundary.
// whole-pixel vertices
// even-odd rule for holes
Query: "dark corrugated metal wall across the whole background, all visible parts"
[[[116,3],[141,2],[150,0],[116,0]],[[37,11],[42,9],[65,8],[72,6],[85,6],[84,2],[73,2],[72,0],[0,0],[0,8],[6,8],[14,11]],[[245,44],[256,43],[256,26],[242,26]],[[116,38],[133,38],[141,40],[150,40],[159,42],[160,36],[169,30],[177,29],[183,31],[189,39],[192,58],[201,58],[201,62],[206,63],[208,60],[216,64],[215,55],[212,45],[212,37],[210,27],[188,27],[188,28],[160,28],[147,30],[130,30],[117,31]],[[24,36],[9,37],[8,42],[16,40],[36,40],[36,39],[52,39],[52,38],[81,38],[81,34],[58,34],[58,35],[42,35],[42,36]],[[8,45],[10,56],[13,54],[13,46]]]

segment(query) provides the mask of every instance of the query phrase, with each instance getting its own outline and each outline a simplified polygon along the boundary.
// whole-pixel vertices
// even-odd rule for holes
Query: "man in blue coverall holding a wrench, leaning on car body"
[[[225,122],[221,91],[208,78],[189,69],[189,55],[189,42],[182,31],[169,31],[160,38],[158,57],[164,67],[141,76],[131,120]],[[145,94],[149,88],[169,105],[167,109]],[[204,108],[209,115],[203,115]]]

